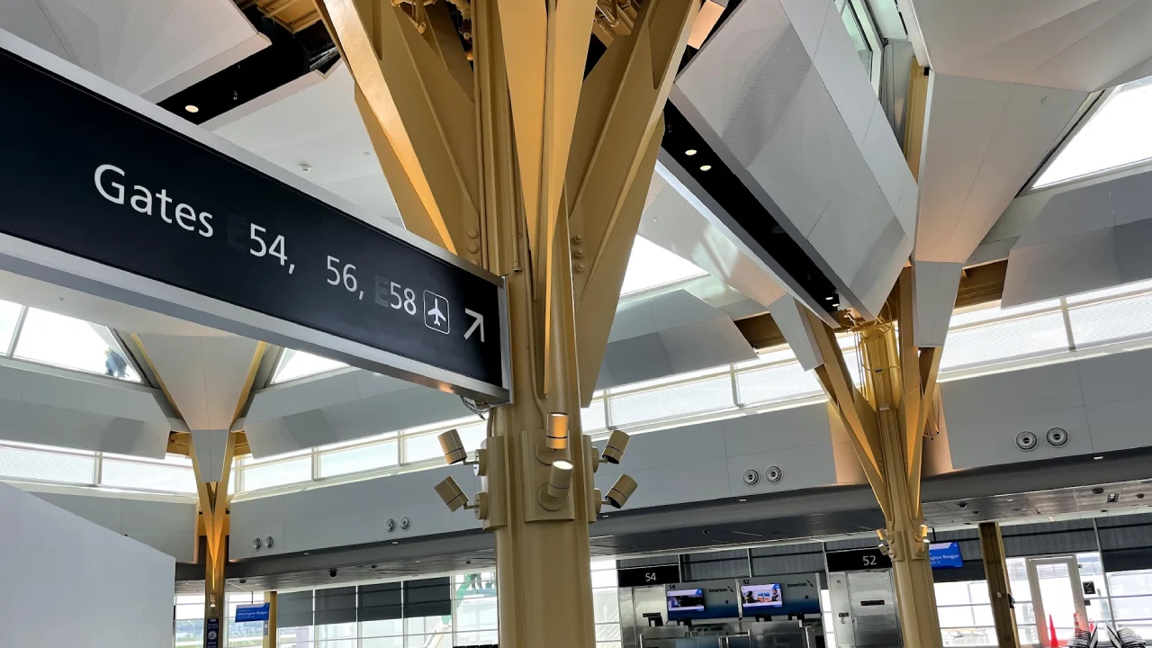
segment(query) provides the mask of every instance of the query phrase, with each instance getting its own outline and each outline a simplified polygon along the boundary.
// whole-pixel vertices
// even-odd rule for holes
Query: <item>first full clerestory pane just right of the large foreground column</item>
[[[727,374],[694,383],[621,394],[608,399],[612,424],[621,427],[734,406],[732,378]]]

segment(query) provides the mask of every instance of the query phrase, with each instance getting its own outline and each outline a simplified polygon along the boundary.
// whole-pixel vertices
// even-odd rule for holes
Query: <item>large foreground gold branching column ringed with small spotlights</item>
[[[500,646],[592,648],[600,495],[579,409],[698,0],[647,0],[627,21],[615,7],[619,31],[597,0],[318,6],[406,227],[507,281],[514,400],[490,417],[484,492],[467,504],[441,484],[495,533]],[[593,24],[607,51],[585,76]],[[567,443],[546,439],[550,420]]]

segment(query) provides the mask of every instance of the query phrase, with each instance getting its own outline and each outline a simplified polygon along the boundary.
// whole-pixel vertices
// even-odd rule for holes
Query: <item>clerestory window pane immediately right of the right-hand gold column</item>
[[[1064,318],[1060,312],[1045,312],[949,332],[940,369],[977,367],[1061,351],[1068,351]]]

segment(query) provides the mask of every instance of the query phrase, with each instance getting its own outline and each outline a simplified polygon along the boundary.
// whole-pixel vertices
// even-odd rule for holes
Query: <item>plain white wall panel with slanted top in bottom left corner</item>
[[[0,646],[172,643],[175,562],[0,484]]]

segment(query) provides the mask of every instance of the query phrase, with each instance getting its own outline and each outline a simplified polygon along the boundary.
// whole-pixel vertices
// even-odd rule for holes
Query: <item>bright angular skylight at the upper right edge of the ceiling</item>
[[[1152,76],[1116,88],[1032,188],[1152,159]]]

